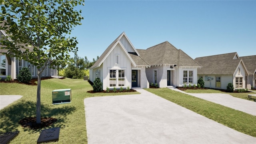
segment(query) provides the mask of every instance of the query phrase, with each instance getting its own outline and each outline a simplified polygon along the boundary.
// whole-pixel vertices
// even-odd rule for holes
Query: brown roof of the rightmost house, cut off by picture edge
[[[241,56],[249,74],[254,74],[256,71],[256,55],[254,56]]]

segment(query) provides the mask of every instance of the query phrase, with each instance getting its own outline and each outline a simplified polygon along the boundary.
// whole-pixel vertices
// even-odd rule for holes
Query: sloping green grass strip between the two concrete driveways
[[[256,116],[168,88],[146,90],[234,130],[256,137]]]

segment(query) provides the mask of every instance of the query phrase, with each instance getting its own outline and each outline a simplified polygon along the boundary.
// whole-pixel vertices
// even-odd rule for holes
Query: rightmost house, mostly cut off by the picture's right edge
[[[249,72],[249,77],[247,79],[247,87],[256,88],[256,55],[254,56],[240,56],[244,61],[244,64]]]

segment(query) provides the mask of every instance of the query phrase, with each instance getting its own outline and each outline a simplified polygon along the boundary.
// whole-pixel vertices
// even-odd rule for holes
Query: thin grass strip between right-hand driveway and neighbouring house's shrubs
[[[236,98],[242,98],[245,100],[248,100],[248,94],[256,94],[255,92],[222,92],[221,90],[212,90],[212,89],[206,89],[206,90],[184,90],[184,92],[187,93],[223,93],[223,94],[230,94],[231,96],[234,96]],[[252,96],[252,98],[256,98],[256,96]],[[253,100],[252,100],[253,101]]]

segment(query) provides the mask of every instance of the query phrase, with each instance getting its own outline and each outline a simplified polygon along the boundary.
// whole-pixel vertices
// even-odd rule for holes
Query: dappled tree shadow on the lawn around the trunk
[[[53,125],[55,127],[63,127],[65,119],[63,117],[74,112],[76,108],[74,106],[63,106],[61,108],[52,108],[47,104],[41,104],[41,117],[53,117],[57,119]],[[61,118],[58,118],[59,116]],[[0,132],[10,132],[18,130],[19,120],[25,117],[35,117],[36,116],[36,103],[32,101],[21,100],[15,105],[9,106],[1,110],[0,115]],[[28,130],[28,129],[27,129]],[[34,130],[41,131],[42,128]],[[26,128],[24,128],[26,131]]]

